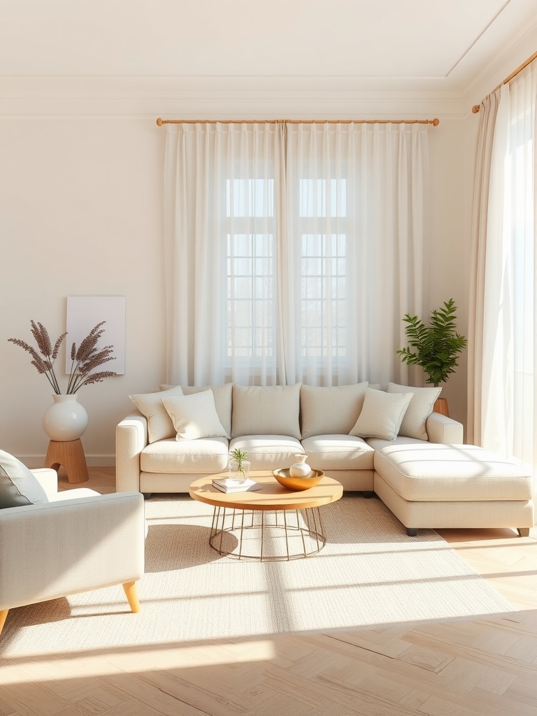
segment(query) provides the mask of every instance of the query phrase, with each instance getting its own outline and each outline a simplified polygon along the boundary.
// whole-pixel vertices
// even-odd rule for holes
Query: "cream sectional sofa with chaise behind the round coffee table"
[[[289,467],[306,453],[311,467],[344,490],[377,493],[412,535],[425,527],[510,526],[526,533],[533,526],[531,475],[481,448],[470,453],[463,425],[431,412],[437,389],[390,383],[381,391],[367,382],[161,388],[132,395],[139,409],[117,425],[118,491],[188,492],[193,480],[226,470],[233,448],[248,450],[251,470]],[[185,420],[202,398],[214,399],[217,417],[205,427],[211,437],[193,437],[202,434],[188,432],[195,417],[190,425]],[[388,417],[379,415],[384,410]],[[394,439],[387,439],[390,430]]]

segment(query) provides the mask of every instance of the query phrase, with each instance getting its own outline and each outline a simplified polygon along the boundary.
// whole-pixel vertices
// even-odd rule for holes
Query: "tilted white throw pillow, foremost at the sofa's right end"
[[[411,400],[412,393],[385,393],[368,388],[362,412],[349,435],[395,440]]]

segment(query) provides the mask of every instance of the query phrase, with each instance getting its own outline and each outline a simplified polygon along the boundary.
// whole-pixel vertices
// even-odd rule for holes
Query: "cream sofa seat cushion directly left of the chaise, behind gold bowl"
[[[391,444],[391,443],[390,443]],[[308,464],[314,470],[372,470],[374,450],[362,437],[315,435],[302,440]]]

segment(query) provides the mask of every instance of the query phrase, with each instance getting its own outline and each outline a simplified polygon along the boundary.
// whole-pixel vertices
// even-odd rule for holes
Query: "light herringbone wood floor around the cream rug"
[[[60,475],[62,489],[115,484],[113,468],[89,473],[82,485]],[[514,619],[0,653],[0,715],[537,716],[537,528],[439,532],[521,610]]]

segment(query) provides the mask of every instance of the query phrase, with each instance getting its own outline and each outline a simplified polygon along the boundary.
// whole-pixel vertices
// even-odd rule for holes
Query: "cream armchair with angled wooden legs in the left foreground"
[[[0,633],[9,609],[122,584],[139,611],[145,518],[140,493],[57,491],[55,470],[32,470],[50,502],[0,510]]]

